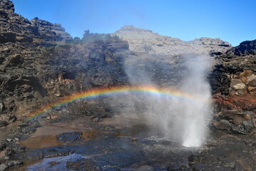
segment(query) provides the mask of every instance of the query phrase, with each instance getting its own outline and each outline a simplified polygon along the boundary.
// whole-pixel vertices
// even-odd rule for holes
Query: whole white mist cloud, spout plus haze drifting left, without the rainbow
[[[170,56],[171,58],[171,56]],[[126,62],[126,74],[131,86],[147,85],[164,87],[170,90],[178,90],[190,98],[175,98],[173,96],[133,94],[121,100],[119,103],[126,104],[121,113],[126,113],[126,118],[140,118],[150,123],[152,128],[158,131],[157,135],[180,142],[185,147],[198,147],[203,145],[208,132],[208,120],[210,118],[210,86],[206,80],[206,73],[210,66],[208,56],[186,55],[179,61],[179,69],[161,66],[154,72],[152,63],[147,60],[138,63]],[[143,65],[141,64],[143,63]],[[179,78],[168,73],[177,72]],[[168,78],[170,83],[164,82]],[[175,82],[175,81],[176,82]],[[167,86],[168,85],[168,86]]]

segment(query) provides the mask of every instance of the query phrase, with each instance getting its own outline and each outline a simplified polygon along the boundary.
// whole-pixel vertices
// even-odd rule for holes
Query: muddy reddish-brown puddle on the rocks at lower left
[[[19,142],[20,145],[24,145],[30,149],[39,149],[43,147],[53,147],[58,145],[63,145],[63,143],[58,142],[56,135],[45,135],[34,138],[29,138],[27,140]]]

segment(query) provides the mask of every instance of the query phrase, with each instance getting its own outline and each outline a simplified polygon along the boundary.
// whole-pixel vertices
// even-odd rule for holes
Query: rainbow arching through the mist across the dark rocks
[[[93,88],[91,90],[86,90],[81,93],[75,93],[73,95],[63,97],[55,103],[50,103],[32,113],[29,113],[27,116],[29,120],[32,120],[39,115],[52,110],[53,108],[61,107],[67,103],[73,103],[76,100],[88,100],[92,98],[108,97],[111,95],[126,95],[127,93],[157,95],[158,97],[171,97],[202,103],[200,102],[200,99],[193,97],[193,95],[183,93],[178,90],[155,88],[153,86],[113,86],[108,88]]]

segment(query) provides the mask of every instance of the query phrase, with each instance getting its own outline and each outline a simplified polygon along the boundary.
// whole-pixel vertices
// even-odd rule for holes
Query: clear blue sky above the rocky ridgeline
[[[13,0],[27,19],[61,24],[71,36],[113,33],[133,25],[191,41],[221,38],[238,46],[256,39],[256,0]]]

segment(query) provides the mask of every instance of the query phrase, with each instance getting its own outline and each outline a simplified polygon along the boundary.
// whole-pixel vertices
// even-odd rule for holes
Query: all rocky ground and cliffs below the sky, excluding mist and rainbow
[[[11,1],[0,0],[0,51],[0,170],[256,170],[256,40],[232,47],[134,26],[72,38],[61,25],[24,19]],[[27,120],[91,88],[178,88],[190,77],[188,56],[211,63],[205,76],[213,119],[198,149],[161,138],[141,120],[116,118],[129,106],[114,97],[79,100]],[[136,112],[143,113],[137,100]]]

